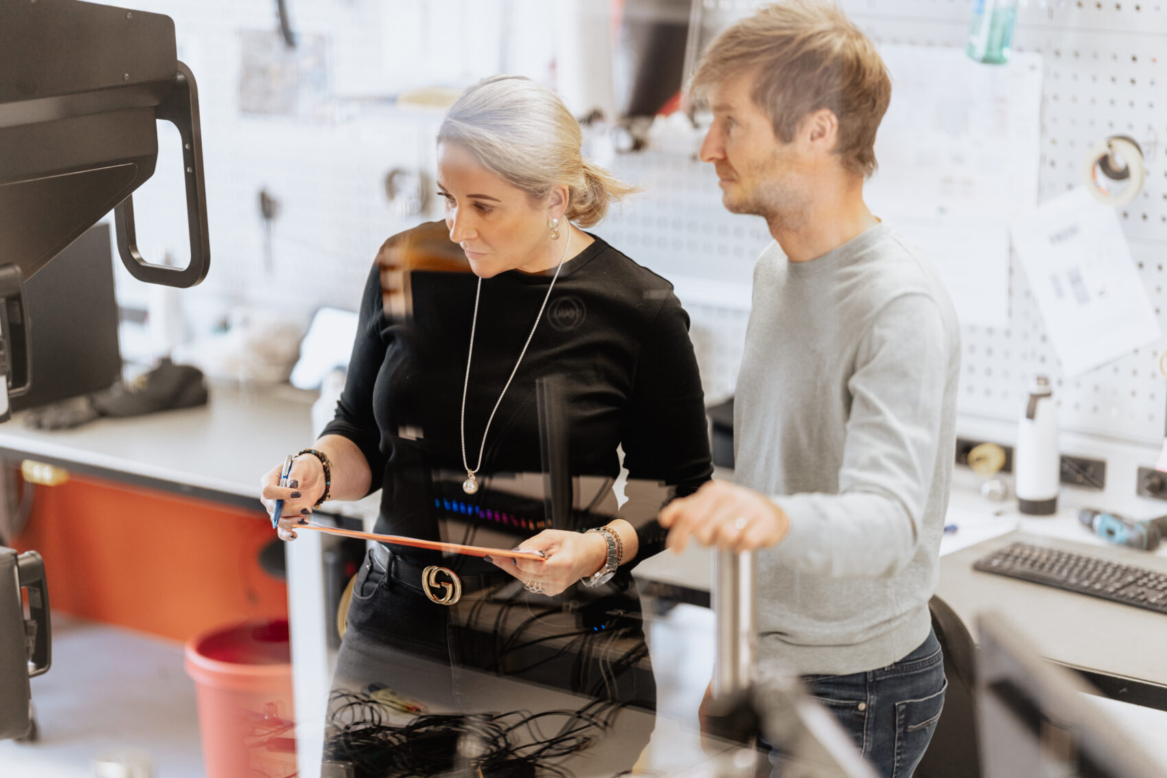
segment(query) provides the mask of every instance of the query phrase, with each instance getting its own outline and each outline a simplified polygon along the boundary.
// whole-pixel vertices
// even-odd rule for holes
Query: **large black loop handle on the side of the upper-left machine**
[[[133,197],[113,209],[118,232],[118,253],[130,273],[148,284],[188,287],[203,280],[210,269],[210,238],[207,230],[207,187],[203,182],[203,145],[198,128],[198,90],[195,76],[182,62],[174,78],[174,89],[158,105],[155,116],[179,128],[182,138],[182,166],[187,179],[187,225],[190,231],[190,263],[186,268],[168,268],[146,262],[138,251],[134,230]]]

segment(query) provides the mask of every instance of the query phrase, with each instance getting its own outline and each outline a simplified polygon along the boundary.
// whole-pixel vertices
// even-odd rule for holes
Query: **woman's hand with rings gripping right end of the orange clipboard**
[[[568,533],[544,529],[523,541],[516,550],[543,551],[546,558],[510,560],[487,557],[495,565],[511,574],[527,586],[538,586],[541,593],[554,597],[580,578],[587,578],[608,561],[608,543],[600,533]]]

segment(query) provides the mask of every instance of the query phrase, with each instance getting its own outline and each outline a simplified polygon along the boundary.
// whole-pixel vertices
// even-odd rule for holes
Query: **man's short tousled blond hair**
[[[830,109],[839,120],[834,152],[854,173],[875,172],[875,131],[892,99],[887,67],[871,39],[830,0],[788,0],[759,8],[705,50],[690,92],[756,72],[753,98],[782,143],[803,119]]]

